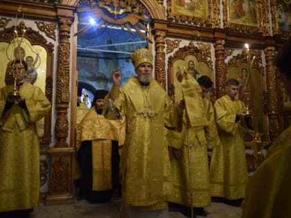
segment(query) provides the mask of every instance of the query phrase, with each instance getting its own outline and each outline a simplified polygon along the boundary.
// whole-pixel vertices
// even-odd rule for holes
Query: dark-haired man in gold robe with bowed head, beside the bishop
[[[206,216],[204,207],[211,205],[207,149],[220,144],[213,106],[205,98],[212,84],[206,75],[202,75],[197,81],[193,79],[196,94],[192,96],[191,102],[199,105],[200,109],[184,110],[182,131],[168,130],[167,133],[168,145],[173,152],[170,160],[173,174],[170,202],[178,203],[187,217],[191,217],[192,208],[194,215]],[[194,115],[197,116],[197,123],[191,126],[188,116]]]

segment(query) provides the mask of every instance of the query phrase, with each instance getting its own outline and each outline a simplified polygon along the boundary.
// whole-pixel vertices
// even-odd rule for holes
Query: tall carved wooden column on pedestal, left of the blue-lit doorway
[[[73,203],[73,154],[74,149],[67,143],[70,101],[70,42],[73,6],[56,5],[59,21],[58,71],[55,107],[55,147],[48,149],[51,156],[50,192],[46,195],[46,205]]]

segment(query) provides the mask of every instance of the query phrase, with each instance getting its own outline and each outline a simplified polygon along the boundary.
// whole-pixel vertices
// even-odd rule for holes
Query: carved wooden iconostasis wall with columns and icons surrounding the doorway
[[[175,79],[178,66],[184,71],[188,69],[189,64],[194,64],[195,70],[200,75],[209,75],[214,82],[209,96],[212,102],[224,95],[227,78],[235,77],[243,84],[244,78],[241,78],[241,75],[247,68],[244,44],[248,43],[251,54],[256,56],[250,73],[252,80],[250,91],[254,93],[252,101],[256,106],[258,133],[261,133],[259,135],[261,142],[257,140],[258,136],[253,137],[249,141],[249,146],[261,147],[262,142],[274,140],[283,131],[283,92],[274,69],[274,57],[276,50],[286,42],[291,32],[279,25],[278,16],[281,15],[277,10],[276,1],[268,3],[252,0],[252,10],[242,15],[231,8],[232,3],[237,1],[224,1],[223,5],[220,5],[220,1],[197,1],[198,4],[195,6],[183,6],[181,2],[0,1],[0,15],[3,17],[0,22],[0,46],[3,44],[3,49],[12,42],[14,29],[7,28],[7,24],[10,24],[9,26],[12,26],[11,22],[14,24],[15,20],[11,17],[15,16],[20,5],[23,6],[25,17],[35,21],[38,30],[42,32],[39,33],[27,26],[24,44],[34,59],[37,57],[34,52],[38,53],[39,50],[35,46],[40,46],[40,53],[46,52],[46,66],[39,65],[39,70],[46,69],[45,92],[49,100],[54,100],[53,119],[46,118],[49,123],[45,121],[42,137],[44,143],[49,144],[53,141],[53,145],[41,150],[50,156],[49,163],[42,163],[40,167],[41,174],[44,175],[43,183],[49,183],[45,197],[47,205],[74,201],[73,157],[76,154],[74,129],[78,93],[76,33],[78,10],[84,10],[84,5],[87,5],[89,11],[94,12],[100,20],[99,25],[105,28],[107,26],[133,28],[132,24],[136,24],[136,19],[139,20],[138,23],[143,24],[145,19],[143,13],[149,15],[148,26],[143,33],[149,42],[148,48],[154,54],[155,79],[168,91],[174,101],[179,100],[181,96],[179,88],[174,89],[179,87]],[[138,11],[137,8],[143,10]],[[128,10],[126,12],[128,17],[123,15],[125,10]],[[18,25],[19,22],[16,26]],[[46,42],[43,35],[55,41],[55,49]],[[2,50],[1,52],[6,53]],[[44,55],[40,56],[40,60],[44,63]],[[53,71],[56,72],[55,78]],[[54,88],[52,84],[55,84]],[[51,118],[51,114],[49,117]],[[255,159],[253,154],[248,158],[249,169],[254,170],[258,165],[261,155],[258,152],[256,152],[258,158]],[[45,176],[48,174],[47,169],[49,179]]]

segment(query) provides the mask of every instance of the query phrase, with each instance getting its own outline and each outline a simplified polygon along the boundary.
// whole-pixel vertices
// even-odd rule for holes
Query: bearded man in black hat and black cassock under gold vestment
[[[124,120],[102,115],[106,90],[96,90],[92,107],[77,127],[80,194],[91,203],[121,198],[118,146],[123,145]]]

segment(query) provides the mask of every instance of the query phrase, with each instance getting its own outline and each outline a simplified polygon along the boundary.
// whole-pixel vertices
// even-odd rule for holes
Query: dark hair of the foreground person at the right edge
[[[284,73],[287,78],[291,79],[291,40],[287,42],[277,53],[275,58],[275,66],[281,73]]]

